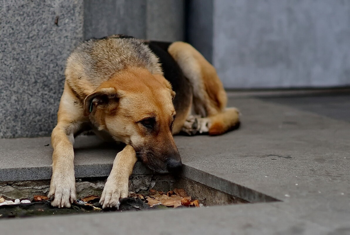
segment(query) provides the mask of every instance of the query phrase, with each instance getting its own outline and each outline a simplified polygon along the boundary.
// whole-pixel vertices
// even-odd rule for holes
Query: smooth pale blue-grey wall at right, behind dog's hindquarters
[[[226,88],[350,85],[350,1],[213,0],[212,9],[193,19],[212,17],[212,28],[192,30],[213,34],[212,62]]]

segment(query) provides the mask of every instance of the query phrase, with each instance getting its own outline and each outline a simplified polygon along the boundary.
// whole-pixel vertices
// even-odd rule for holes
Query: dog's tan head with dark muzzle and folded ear
[[[181,169],[172,135],[175,92],[160,74],[128,69],[104,82],[84,100],[99,129],[131,144],[149,168],[160,173]]]

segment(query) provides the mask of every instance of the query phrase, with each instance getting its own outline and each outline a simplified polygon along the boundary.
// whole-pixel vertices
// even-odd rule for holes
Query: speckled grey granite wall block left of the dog
[[[1,138],[50,134],[65,60],[82,38],[83,0],[1,1]]]

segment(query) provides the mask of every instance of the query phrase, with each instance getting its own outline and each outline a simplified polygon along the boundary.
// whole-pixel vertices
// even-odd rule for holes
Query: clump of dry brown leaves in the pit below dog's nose
[[[172,191],[164,193],[163,191],[149,190],[149,196],[145,197],[149,206],[163,205],[168,207],[194,206],[200,207],[198,200],[191,200],[183,188],[175,188]]]

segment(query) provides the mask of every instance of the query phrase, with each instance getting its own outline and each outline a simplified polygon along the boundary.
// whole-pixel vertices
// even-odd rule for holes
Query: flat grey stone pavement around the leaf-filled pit
[[[269,196],[280,202],[23,219],[20,220],[22,226],[16,227],[16,234],[26,234],[28,230],[38,235],[49,231],[108,234],[116,227],[120,233],[137,234],[214,234],[217,231],[221,234],[347,234],[350,232],[350,123],[340,114],[342,102],[335,100],[333,118],[320,112],[324,108],[320,105],[322,99],[313,99],[313,102],[313,108],[306,111],[303,105],[300,108],[289,102],[282,105],[280,98],[236,96],[230,98],[229,106],[238,107],[243,114],[240,129],[216,137],[175,138],[186,178],[231,195],[255,200]],[[3,143],[1,140],[1,150]],[[28,149],[26,141],[22,141],[22,145]],[[110,164],[113,157],[103,157],[110,155],[106,154],[109,151],[91,150],[95,155],[100,154],[97,161],[88,158],[86,150],[85,161],[91,161],[92,165]],[[20,155],[17,157],[22,159]],[[10,162],[0,158],[0,162],[3,161]],[[17,164],[22,163],[17,161]],[[4,169],[3,165],[0,167]],[[145,220],[145,216],[156,219]],[[71,220],[75,223],[70,223]],[[18,221],[0,221],[0,227],[5,229],[2,232],[13,232],[10,229]],[[81,225],[79,229],[76,223]]]

